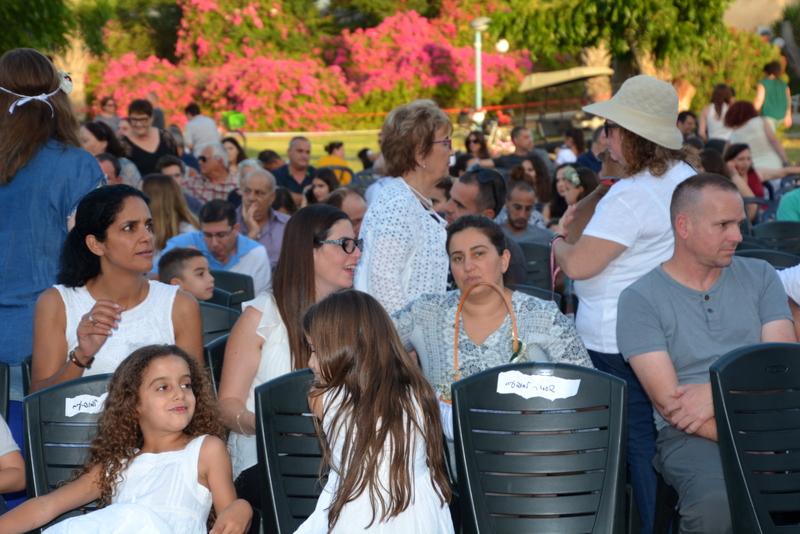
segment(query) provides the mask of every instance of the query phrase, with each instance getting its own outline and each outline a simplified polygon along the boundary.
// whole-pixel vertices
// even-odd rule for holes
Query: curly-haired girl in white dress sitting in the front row
[[[134,351],[117,367],[89,461],[72,481],[0,516],[23,533],[97,501],[100,509],[47,534],[242,534],[252,517],[236,499],[225,429],[207,373],[175,345]]]

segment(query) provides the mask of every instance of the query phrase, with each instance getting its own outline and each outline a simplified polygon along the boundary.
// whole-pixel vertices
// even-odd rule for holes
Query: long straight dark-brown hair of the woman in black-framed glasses
[[[292,215],[283,233],[281,254],[272,276],[272,294],[286,325],[294,370],[308,367],[310,357],[300,324],[303,312],[317,299],[314,249],[322,246],[331,227],[341,220],[350,220],[342,210],[314,204]]]

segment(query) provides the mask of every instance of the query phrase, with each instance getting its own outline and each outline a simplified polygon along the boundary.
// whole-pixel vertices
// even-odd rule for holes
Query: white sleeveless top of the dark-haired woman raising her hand
[[[86,286],[70,288],[57,285],[55,288],[61,294],[67,312],[67,351],[70,351],[78,346],[77,330],[81,317],[89,313],[96,301]],[[172,305],[177,292],[178,286],[150,280],[147,297],[138,306],[122,312],[119,328],[103,343],[94,356],[92,368],[86,369],[83,376],[113,373],[122,360],[141,347],[157,343],[174,344]]]

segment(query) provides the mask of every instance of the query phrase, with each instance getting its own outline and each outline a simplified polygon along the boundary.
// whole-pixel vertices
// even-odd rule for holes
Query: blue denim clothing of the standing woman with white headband
[[[18,364],[31,354],[33,310],[56,282],[67,219],[104,182],[94,156],[51,139],[0,185],[0,361]]]

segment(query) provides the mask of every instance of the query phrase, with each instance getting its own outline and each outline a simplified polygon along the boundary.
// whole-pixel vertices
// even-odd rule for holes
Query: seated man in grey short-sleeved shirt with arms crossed
[[[734,256],[744,205],[699,174],[675,189],[672,258],[625,289],[617,342],[653,402],[654,465],[680,496],[681,532],[729,533],[708,368],[753,343],[795,342],[786,293],[766,262]]]

